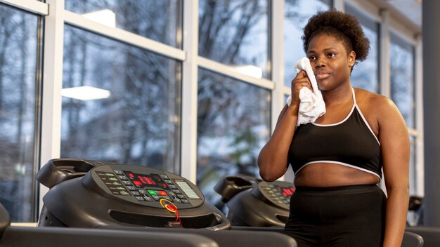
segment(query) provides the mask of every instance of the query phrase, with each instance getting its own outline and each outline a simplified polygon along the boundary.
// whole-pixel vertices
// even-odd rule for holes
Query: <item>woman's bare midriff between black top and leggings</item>
[[[380,179],[376,175],[335,163],[311,163],[295,175],[296,186],[335,187],[378,182]]]

